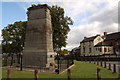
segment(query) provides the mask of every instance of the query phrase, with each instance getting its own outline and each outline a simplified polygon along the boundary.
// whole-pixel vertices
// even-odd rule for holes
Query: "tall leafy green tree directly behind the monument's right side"
[[[70,17],[64,17],[64,9],[58,6],[52,6],[51,19],[53,29],[53,47],[54,50],[61,50],[62,47],[67,45],[67,34],[70,31],[69,25],[73,24]]]

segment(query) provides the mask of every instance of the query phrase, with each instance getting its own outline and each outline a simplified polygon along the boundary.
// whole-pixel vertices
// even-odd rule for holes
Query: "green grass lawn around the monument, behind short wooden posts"
[[[71,77],[72,78],[96,78],[96,68],[99,67],[95,64],[75,61],[75,66],[71,69]],[[117,78],[117,73],[112,73],[112,71],[101,68],[101,77],[102,78]],[[3,78],[6,78],[6,70],[2,70]],[[24,71],[11,71],[12,78],[33,78],[33,72],[24,72]],[[62,74],[47,74],[47,73],[39,73],[39,78],[67,78],[67,73],[64,72]]]

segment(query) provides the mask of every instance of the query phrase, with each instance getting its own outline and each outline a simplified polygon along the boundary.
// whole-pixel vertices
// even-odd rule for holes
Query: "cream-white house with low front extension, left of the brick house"
[[[106,33],[104,33],[104,36],[84,37],[80,42],[81,56],[113,54],[113,45],[105,42],[105,34]]]

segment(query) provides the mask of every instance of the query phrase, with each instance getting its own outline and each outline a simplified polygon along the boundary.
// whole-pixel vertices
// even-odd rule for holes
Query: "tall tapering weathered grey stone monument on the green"
[[[50,10],[46,5],[28,8],[24,67],[47,67],[54,64]]]

